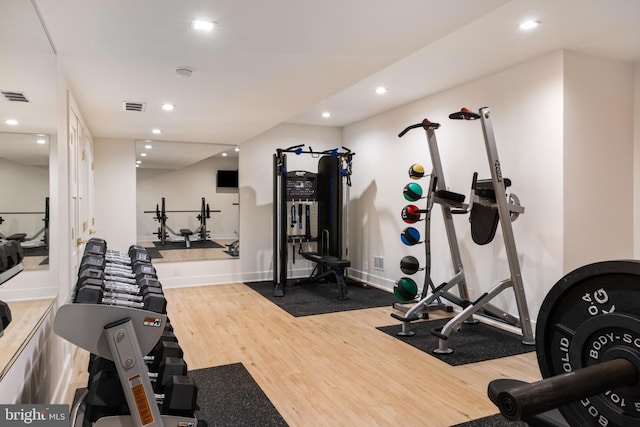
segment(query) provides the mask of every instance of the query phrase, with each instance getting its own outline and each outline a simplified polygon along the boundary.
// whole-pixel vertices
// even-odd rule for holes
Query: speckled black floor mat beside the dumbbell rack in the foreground
[[[198,386],[200,417],[213,426],[286,426],[242,363],[189,372]]]

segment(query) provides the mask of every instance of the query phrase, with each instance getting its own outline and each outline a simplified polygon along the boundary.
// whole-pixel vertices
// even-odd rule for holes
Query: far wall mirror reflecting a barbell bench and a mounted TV
[[[138,244],[154,262],[239,256],[239,149],[136,141]]]

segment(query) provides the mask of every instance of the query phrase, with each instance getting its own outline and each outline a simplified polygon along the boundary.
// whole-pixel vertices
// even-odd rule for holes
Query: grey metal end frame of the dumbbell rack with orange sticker
[[[144,361],[167,324],[166,314],[136,307],[75,303],[58,309],[54,331],[92,354],[114,362],[131,415],[99,418],[94,427],[194,427],[195,417],[164,415]],[[75,420],[74,420],[75,421]]]

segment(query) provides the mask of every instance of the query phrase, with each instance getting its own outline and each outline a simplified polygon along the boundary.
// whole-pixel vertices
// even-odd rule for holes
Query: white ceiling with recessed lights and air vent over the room
[[[344,126],[558,49],[640,62],[638,0],[32,2],[94,137],[235,145],[282,122]],[[524,33],[524,19],[542,25]]]

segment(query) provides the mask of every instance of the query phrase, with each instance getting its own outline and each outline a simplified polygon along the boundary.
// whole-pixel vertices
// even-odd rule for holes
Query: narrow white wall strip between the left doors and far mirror
[[[93,150],[96,236],[126,251],[136,240],[135,142],[96,138]]]

